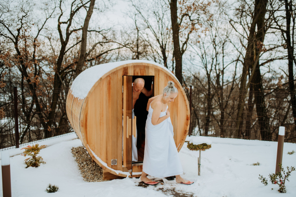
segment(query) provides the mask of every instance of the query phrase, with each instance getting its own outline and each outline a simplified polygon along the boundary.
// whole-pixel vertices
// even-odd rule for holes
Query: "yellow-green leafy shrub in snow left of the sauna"
[[[41,156],[37,156],[37,154],[39,154],[40,150],[42,148],[45,148],[45,145],[39,146],[39,144],[35,144],[33,146],[27,146],[25,148],[22,148],[21,150],[25,149],[23,156],[31,156],[28,159],[25,159],[25,163],[27,164],[27,167],[38,167],[39,164],[45,164],[45,162],[43,162],[43,159],[41,158]],[[27,168],[26,167],[26,168]]]

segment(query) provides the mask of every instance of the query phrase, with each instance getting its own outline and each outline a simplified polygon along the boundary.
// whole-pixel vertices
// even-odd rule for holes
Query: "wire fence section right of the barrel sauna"
[[[283,126],[285,142],[296,143],[292,112],[296,106],[291,104],[288,91],[247,92],[240,118],[239,96],[238,90],[209,93],[195,88],[191,108],[192,134],[276,141],[279,127]]]

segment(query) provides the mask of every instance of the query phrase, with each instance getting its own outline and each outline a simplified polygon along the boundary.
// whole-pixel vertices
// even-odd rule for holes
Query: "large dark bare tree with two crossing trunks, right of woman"
[[[254,2],[254,5],[251,6],[247,1],[240,2],[241,3],[239,7],[237,8],[238,21],[230,20],[230,24],[232,25],[234,30],[248,41],[247,46],[243,45],[245,48],[245,55],[244,61],[242,63],[243,70],[241,76],[240,97],[237,112],[237,136],[240,137],[242,135],[240,126],[242,124],[241,121],[244,109],[243,103],[252,82],[254,91],[256,92],[255,103],[257,115],[259,117],[261,137],[264,139],[270,139],[271,132],[269,128],[269,118],[267,116],[264,91],[262,86],[262,77],[259,68],[259,66],[264,65],[264,63],[259,64],[259,58],[260,53],[262,51],[266,51],[263,41],[265,34],[270,27],[269,21],[272,14],[269,12],[267,19],[265,19],[267,0],[256,0]],[[249,19],[251,20],[251,22],[248,22]],[[243,32],[239,31],[234,24],[240,24],[240,28],[243,30]],[[246,29],[246,27],[248,27],[249,31]],[[247,35],[247,37],[244,35],[244,33]],[[240,40],[242,43],[241,38]],[[269,62],[270,61],[273,60],[269,60]],[[251,72],[251,75],[247,84],[246,82],[249,70]]]

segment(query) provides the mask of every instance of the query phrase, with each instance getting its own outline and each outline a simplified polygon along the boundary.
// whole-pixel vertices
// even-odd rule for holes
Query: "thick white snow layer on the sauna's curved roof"
[[[148,60],[128,60],[128,61],[121,61],[121,62],[113,62],[113,63],[107,63],[107,64],[101,64],[97,66],[92,66],[83,72],[81,72],[73,81],[71,90],[72,94],[74,97],[78,99],[84,99],[90,89],[95,85],[95,83],[107,72],[110,70],[126,65],[126,64],[131,64],[131,63],[147,63],[147,64],[153,64],[156,66],[160,66],[161,68],[165,69],[166,71],[172,73],[169,69],[166,67],[157,64],[152,61]],[[172,73],[172,75],[176,78],[178,81],[177,77]]]

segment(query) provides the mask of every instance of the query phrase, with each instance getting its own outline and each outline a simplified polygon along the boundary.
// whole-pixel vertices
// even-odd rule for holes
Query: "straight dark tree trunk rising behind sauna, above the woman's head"
[[[181,85],[183,86],[183,78],[182,78],[182,54],[180,49],[180,40],[179,40],[179,33],[180,27],[178,23],[178,0],[171,0],[170,2],[170,9],[171,9],[171,20],[172,20],[172,31],[173,31],[173,44],[174,44],[174,57],[175,57],[175,75]]]

